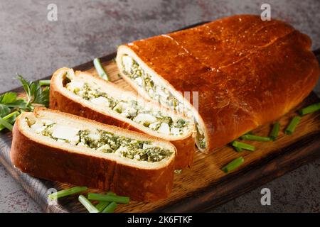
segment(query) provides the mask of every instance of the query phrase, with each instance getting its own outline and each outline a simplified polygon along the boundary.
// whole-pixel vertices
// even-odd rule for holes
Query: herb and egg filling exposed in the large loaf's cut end
[[[174,94],[171,94],[166,87],[161,86],[161,84],[156,84],[151,75],[147,74],[132,57],[128,55],[122,56],[122,67],[122,72],[131,78],[132,82],[144,89],[151,99],[159,101],[160,104],[169,106],[169,108],[174,109],[179,113],[184,113],[188,117],[192,118],[191,109],[188,109],[185,104],[178,101]],[[194,121],[197,130],[197,145],[201,149],[206,149],[206,137],[203,128],[201,128],[196,120]]]

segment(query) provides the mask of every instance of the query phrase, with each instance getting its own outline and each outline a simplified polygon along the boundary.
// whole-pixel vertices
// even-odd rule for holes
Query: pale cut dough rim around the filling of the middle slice
[[[143,106],[146,106],[147,108],[153,111],[161,111],[161,113],[167,116],[171,116],[172,118],[183,118],[188,122],[188,128],[186,128],[186,131],[184,131],[183,134],[181,135],[166,135],[163,133],[159,133],[157,131],[153,131],[150,128],[144,127],[142,126],[142,124],[132,121],[129,118],[126,118],[125,116],[122,116],[121,114],[118,114],[117,112],[112,111],[111,109],[100,108],[100,106],[92,104],[90,101],[87,101],[85,99],[82,99],[82,97],[74,94],[73,92],[70,92],[68,89],[63,87],[63,79],[65,78],[66,72],[73,75],[73,77],[77,77],[77,79],[87,82],[88,84],[90,84],[90,86],[96,87],[100,91],[105,92],[116,99],[134,99],[134,100],[137,100],[139,103],[141,103]],[[146,100],[144,99],[144,97],[137,96],[137,94],[134,94],[133,92],[125,91],[117,87],[115,84],[106,82],[104,79],[101,79],[100,77],[95,77],[92,74],[89,74],[87,72],[81,72],[81,71],[74,72],[72,69],[69,69],[69,68],[61,68],[60,70],[57,70],[53,74],[50,86],[51,86],[50,89],[52,91],[58,92],[59,94],[63,95],[65,98],[71,101],[74,101],[75,103],[78,103],[81,106],[85,106],[88,109],[92,109],[92,111],[96,111],[110,118],[114,118],[115,121],[126,123],[127,125],[137,128],[139,131],[143,133],[146,133],[158,138],[163,138],[164,140],[169,140],[172,142],[176,140],[185,140],[186,138],[190,138],[194,136],[195,131],[194,131],[193,121],[186,118],[186,116],[175,113],[174,111],[164,108],[163,106],[159,106],[159,104],[156,104],[153,101]],[[53,94],[52,99],[53,100],[55,99],[55,94]],[[72,104],[70,104],[70,106],[72,106]],[[56,108],[55,105],[52,105],[52,106],[50,105],[50,108],[59,109],[59,107]],[[66,110],[63,109],[62,111],[66,111]],[[76,114],[76,113],[72,113],[72,114]],[[86,117],[90,118],[90,116],[86,116]],[[99,119],[95,119],[95,120],[99,121]],[[109,122],[106,122],[106,123],[109,123]]]

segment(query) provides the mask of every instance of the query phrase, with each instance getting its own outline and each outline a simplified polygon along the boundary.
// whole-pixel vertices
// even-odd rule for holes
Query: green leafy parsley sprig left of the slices
[[[49,87],[41,88],[39,82],[28,82],[18,75],[26,99],[18,98],[16,92],[6,92],[0,95],[0,131],[8,128],[12,131],[16,117],[24,111],[33,111],[35,106],[49,105]]]

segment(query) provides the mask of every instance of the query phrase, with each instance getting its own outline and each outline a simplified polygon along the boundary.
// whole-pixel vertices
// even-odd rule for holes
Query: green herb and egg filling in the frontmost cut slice
[[[160,162],[174,153],[171,150],[161,148],[152,141],[127,138],[100,129],[83,130],[39,118],[37,120],[26,118],[26,123],[37,134],[58,143],[91,148],[102,153],[114,153],[132,160]]]

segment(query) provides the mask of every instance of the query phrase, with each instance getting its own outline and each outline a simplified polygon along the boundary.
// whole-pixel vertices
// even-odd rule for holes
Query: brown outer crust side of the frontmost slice
[[[24,135],[20,120],[18,118],[14,124],[10,155],[11,162],[22,172],[43,179],[112,190],[135,201],[156,201],[171,192],[173,161],[164,167],[148,170],[53,148]]]

